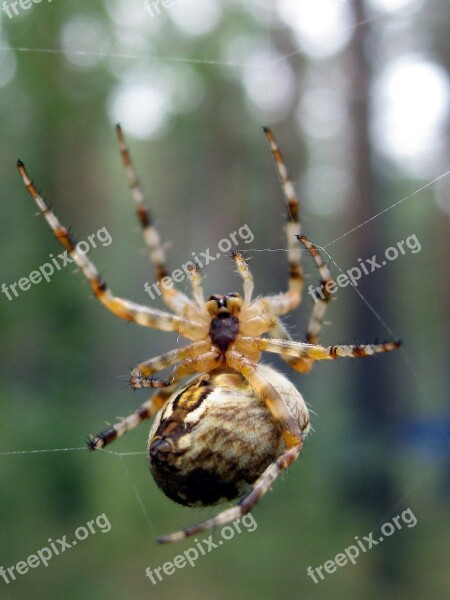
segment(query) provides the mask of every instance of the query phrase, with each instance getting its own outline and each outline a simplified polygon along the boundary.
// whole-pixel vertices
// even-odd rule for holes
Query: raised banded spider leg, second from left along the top
[[[142,193],[142,189],[139,185],[139,180],[131,161],[131,156],[120,125],[116,125],[116,132],[119,140],[122,161],[127,172],[128,182],[130,184],[131,193],[136,206],[136,215],[141,224],[145,243],[150,252],[150,260],[155,269],[156,281],[160,284],[159,287],[166,305],[174,312],[179,313],[185,304],[191,304],[191,300],[174,287],[169,289],[162,283],[164,277],[169,276],[169,272],[166,268],[166,256],[164,248],[161,244],[161,238],[150,215],[150,211],[145,204],[144,194]]]

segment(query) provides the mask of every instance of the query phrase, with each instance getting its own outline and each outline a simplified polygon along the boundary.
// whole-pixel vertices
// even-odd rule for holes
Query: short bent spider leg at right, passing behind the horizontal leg
[[[305,248],[313,257],[321,277],[321,296],[316,298],[306,332],[306,342],[308,344],[317,344],[319,341],[319,332],[323,324],[325,311],[331,298],[331,294],[328,291],[328,285],[333,283],[333,279],[321,255],[311,244],[311,242],[307,240],[304,235],[298,236],[298,240],[305,246]],[[276,324],[269,331],[269,335],[272,338],[293,341],[292,337],[289,335],[289,332],[286,330],[280,319],[277,319]],[[307,373],[314,366],[314,361],[311,359],[297,358],[294,356],[282,356],[282,358],[290,367],[292,367],[295,371],[299,371],[300,373]]]

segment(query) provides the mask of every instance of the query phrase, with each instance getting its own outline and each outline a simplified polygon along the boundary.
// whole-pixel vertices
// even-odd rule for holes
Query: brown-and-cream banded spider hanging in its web
[[[157,281],[161,282],[168,275],[163,246],[144,203],[120,125],[116,129],[136,213]],[[161,285],[163,300],[171,312],[114,296],[90,259],[78,252],[74,238],[37,192],[22,161],[18,161],[28,192],[100,302],[123,319],[174,331],[190,340],[184,347],[137,365],[131,372],[131,387],[156,388],[156,392],[133,414],[88,440],[89,450],[104,448],[156,414],[148,441],[148,458],[153,477],[164,493],[186,506],[210,506],[239,499],[213,518],[162,536],[159,542],[181,540],[242,517],[298,457],[310,427],[308,409],[300,392],[284,375],[259,362],[262,352],[279,354],[295,371],[306,373],[317,360],[370,356],[399,346],[397,341],[318,344],[332,278],[315,246],[301,235],[299,202],[293,184],[272,132],[264,128],[264,133],[288,207],[287,291],[252,298],[253,279],[247,262],[241,253],[234,252],[232,258],[243,282],[243,296],[235,292],[214,294],[206,300],[200,270],[193,267],[192,298],[174,287]],[[280,317],[301,301],[302,250],[315,262],[324,291],[323,298],[314,304],[306,341],[297,342]],[[168,379],[154,377],[169,367],[173,369]],[[183,385],[188,376],[191,378]]]

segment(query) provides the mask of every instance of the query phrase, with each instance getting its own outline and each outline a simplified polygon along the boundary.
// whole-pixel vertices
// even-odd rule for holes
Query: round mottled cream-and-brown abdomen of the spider
[[[300,393],[274,369],[263,368],[306,431],[308,411]],[[150,470],[164,493],[180,504],[232,500],[286,450],[281,433],[240,374],[214,371],[174,393],[158,414],[149,437]]]

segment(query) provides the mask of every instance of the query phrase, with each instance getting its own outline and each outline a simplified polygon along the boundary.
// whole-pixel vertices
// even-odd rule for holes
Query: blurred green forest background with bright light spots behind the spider
[[[258,294],[287,279],[284,199],[261,127],[274,130],[305,234],[334,276],[416,235],[331,303],[322,342],[403,340],[396,353],[291,374],[314,432],[236,535],[153,586],[145,568],[193,545],[158,535],[203,520],[157,490],[149,426],[88,455],[88,432],[146,399],[129,368],[184,343],[108,313],[67,267],[0,294],[0,565],[105,513],[96,534],[6,584],[0,598],[448,598],[450,3],[448,0],[144,0],[2,4],[1,281],[61,250],[16,170],[20,157],[112,290],[161,308],[115,139],[121,122],[170,269],[247,224]],[[24,3],[26,6],[26,3]],[[6,8],[5,8],[6,7]],[[308,256],[306,284],[319,278]],[[227,256],[207,294],[239,289]],[[183,286],[182,286],[183,287]],[[312,300],[287,319],[302,340]],[[286,371],[276,359],[270,362]],[[287,371],[286,371],[287,372]],[[33,451],[48,450],[48,452]],[[410,508],[414,528],[315,584],[307,576]],[[219,532],[214,533],[218,539]]]

